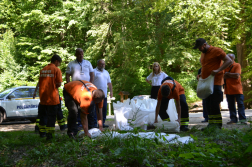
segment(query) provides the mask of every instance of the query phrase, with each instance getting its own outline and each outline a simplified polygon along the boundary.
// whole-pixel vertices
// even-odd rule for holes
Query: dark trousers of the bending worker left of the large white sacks
[[[77,121],[78,114],[80,114],[81,112],[80,106],[74,101],[74,99],[65,90],[63,90],[63,96],[65,100],[65,106],[68,109],[67,134],[68,135],[73,134],[75,136],[78,133],[78,126],[76,124],[76,121]],[[94,102],[92,102],[88,109],[88,113],[89,113],[88,115],[94,115],[94,109],[95,109],[95,104]]]

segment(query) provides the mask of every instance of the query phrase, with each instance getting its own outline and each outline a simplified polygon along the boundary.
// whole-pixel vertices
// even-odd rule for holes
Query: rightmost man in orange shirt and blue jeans
[[[228,54],[230,59],[232,59],[233,64],[230,65],[228,68],[225,69],[224,79],[224,93],[227,97],[228,108],[230,113],[230,119],[227,124],[235,124],[237,123],[237,116],[236,116],[236,107],[235,107],[235,100],[238,106],[238,114],[239,114],[239,121],[242,124],[246,123],[246,116],[245,116],[245,107],[243,104],[244,96],[241,84],[241,65],[234,61],[235,55]]]

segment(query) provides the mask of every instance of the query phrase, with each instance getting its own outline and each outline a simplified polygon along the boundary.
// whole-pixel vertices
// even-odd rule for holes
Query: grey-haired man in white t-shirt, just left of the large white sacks
[[[103,108],[102,108],[102,115],[103,115],[103,127],[107,128],[108,125],[105,125],[106,116],[107,116],[107,86],[110,90],[110,98],[113,97],[113,89],[112,83],[110,80],[110,76],[107,70],[105,70],[105,61],[100,59],[97,61],[97,67],[94,69],[94,85],[98,88],[103,90],[105,94],[105,98],[103,100]]]

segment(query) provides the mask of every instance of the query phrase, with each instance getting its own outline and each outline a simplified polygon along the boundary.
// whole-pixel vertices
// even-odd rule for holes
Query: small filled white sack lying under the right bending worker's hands
[[[156,128],[164,129],[169,132],[179,132],[180,131],[180,126],[177,121],[175,121],[175,122],[161,121],[158,123],[154,123],[153,125]]]

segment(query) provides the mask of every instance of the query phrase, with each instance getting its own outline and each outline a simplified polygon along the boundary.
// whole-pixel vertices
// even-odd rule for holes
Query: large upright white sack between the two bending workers
[[[152,125],[155,121],[156,105],[157,100],[155,99],[127,99],[123,103],[119,101],[113,103],[116,129],[130,130],[132,127],[141,127],[147,130],[147,124]],[[171,121],[174,122],[178,119],[173,99],[169,101],[167,113]],[[159,116],[158,121],[162,121]]]

